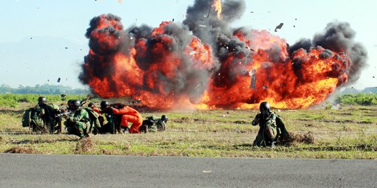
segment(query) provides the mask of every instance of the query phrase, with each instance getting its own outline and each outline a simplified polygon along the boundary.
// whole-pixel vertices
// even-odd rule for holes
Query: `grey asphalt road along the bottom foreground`
[[[377,160],[0,154],[0,187],[377,187]]]

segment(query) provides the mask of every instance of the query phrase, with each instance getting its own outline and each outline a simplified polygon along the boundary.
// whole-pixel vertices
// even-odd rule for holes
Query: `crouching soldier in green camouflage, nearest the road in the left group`
[[[66,121],[64,122],[68,134],[80,136],[80,139],[84,136],[90,137],[87,130],[90,126],[89,113],[81,108],[80,100],[73,100],[71,102],[70,110],[72,113],[66,117]]]

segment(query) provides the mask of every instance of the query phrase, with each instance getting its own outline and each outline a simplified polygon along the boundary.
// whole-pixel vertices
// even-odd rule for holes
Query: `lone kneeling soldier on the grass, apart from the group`
[[[270,110],[268,102],[261,102],[260,113],[256,115],[253,122],[253,126],[259,124],[259,131],[256,139],[253,141],[253,146],[275,146],[275,142],[278,139],[286,139],[289,137],[286,126],[283,120]]]

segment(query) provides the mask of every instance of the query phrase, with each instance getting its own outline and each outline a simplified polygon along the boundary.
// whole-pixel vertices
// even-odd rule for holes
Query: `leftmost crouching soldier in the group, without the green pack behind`
[[[47,131],[53,134],[61,132],[61,118],[55,117],[59,113],[59,107],[55,104],[47,104],[46,97],[38,97],[37,106],[40,108],[40,116],[43,118]]]

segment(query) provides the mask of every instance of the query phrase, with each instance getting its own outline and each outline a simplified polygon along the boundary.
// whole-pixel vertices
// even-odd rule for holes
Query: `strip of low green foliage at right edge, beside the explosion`
[[[350,105],[362,105],[370,106],[377,104],[377,93],[375,94],[346,94],[339,95],[336,99],[336,102],[340,104],[350,104]]]

